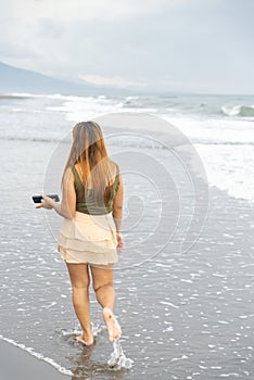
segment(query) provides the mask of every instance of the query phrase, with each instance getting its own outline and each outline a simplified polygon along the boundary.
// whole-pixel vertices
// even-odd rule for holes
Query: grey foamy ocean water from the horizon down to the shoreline
[[[72,379],[253,378],[254,100],[246,96],[0,99],[0,338]],[[58,192],[72,128],[94,119],[123,170],[126,249],[115,313],[129,359],[111,368],[91,293],[92,350],[75,342]]]

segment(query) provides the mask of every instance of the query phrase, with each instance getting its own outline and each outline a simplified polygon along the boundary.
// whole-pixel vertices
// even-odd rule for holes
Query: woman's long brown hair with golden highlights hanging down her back
[[[82,122],[73,128],[73,144],[64,167],[65,173],[75,164],[81,168],[81,181],[85,188],[93,189],[93,199],[99,206],[104,206],[111,198],[111,185],[118,174],[118,165],[107,155],[100,126],[94,122]]]

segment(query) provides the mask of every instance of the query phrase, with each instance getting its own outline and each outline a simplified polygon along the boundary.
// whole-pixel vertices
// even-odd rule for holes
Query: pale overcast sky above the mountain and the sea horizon
[[[0,0],[0,61],[142,91],[254,93],[253,0]]]

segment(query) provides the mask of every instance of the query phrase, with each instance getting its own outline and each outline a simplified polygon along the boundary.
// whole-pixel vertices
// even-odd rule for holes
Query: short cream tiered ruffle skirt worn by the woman
[[[116,229],[112,213],[89,215],[76,212],[64,218],[58,251],[66,263],[109,265],[118,261]]]

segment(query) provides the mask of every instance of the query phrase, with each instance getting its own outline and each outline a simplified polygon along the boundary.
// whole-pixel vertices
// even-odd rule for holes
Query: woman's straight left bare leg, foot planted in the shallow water
[[[89,284],[90,277],[87,264],[68,264],[68,274],[73,288],[73,306],[82,328],[82,335],[77,340],[86,345],[93,343],[90,325]]]

